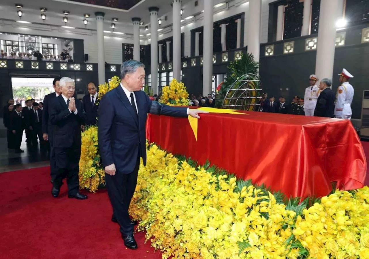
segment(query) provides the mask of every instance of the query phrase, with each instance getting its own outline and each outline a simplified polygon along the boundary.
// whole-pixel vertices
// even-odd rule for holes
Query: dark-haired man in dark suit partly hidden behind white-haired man
[[[60,77],[56,77],[52,82],[52,86],[54,87],[55,92],[48,94],[44,98],[44,109],[42,110],[42,138],[44,141],[48,141],[48,149],[49,149],[49,156],[50,156],[50,177],[51,182],[54,180],[56,175],[55,172],[55,156],[52,150],[52,130],[54,126],[51,124],[49,119],[49,103],[51,100],[61,95],[62,91],[59,86]]]

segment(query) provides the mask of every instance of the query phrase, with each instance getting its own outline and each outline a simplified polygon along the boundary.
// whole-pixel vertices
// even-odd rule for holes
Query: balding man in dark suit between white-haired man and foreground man
[[[87,84],[88,94],[83,96],[82,105],[87,115],[86,126],[97,124],[97,109],[99,106],[96,105],[97,98],[97,87],[94,83]]]

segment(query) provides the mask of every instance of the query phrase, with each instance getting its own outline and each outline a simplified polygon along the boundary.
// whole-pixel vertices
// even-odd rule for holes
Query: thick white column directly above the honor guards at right
[[[315,75],[319,79],[332,79],[333,76],[337,10],[337,0],[320,2],[317,62],[315,65]]]

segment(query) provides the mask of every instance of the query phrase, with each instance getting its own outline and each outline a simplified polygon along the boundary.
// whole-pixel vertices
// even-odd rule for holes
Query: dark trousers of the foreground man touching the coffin
[[[105,183],[113,207],[113,215],[120,225],[120,232],[125,236],[133,235],[133,225],[128,214],[128,208],[136,189],[139,162],[140,156],[138,155],[132,173],[123,174],[116,168],[115,175],[105,174]]]

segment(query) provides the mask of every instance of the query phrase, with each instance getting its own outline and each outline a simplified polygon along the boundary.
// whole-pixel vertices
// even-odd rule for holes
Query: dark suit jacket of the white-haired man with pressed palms
[[[75,99],[77,114],[71,113],[63,97],[59,95],[49,104],[49,119],[52,124],[52,146],[69,148],[73,143],[81,145],[81,125],[86,121],[82,104]]]

